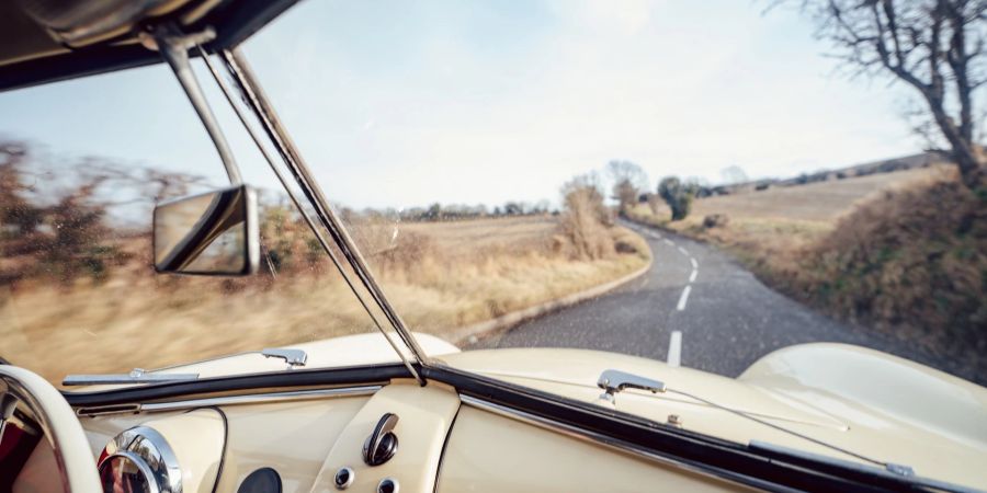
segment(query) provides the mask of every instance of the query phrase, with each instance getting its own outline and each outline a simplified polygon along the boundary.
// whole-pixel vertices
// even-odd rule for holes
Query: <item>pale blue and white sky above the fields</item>
[[[315,1],[245,50],[327,195],[351,207],[557,200],[613,159],[791,176],[920,151],[908,92],[851,80],[797,12],[745,0]],[[272,175],[197,67],[248,183]],[[0,93],[0,136],[223,167],[159,65]]]

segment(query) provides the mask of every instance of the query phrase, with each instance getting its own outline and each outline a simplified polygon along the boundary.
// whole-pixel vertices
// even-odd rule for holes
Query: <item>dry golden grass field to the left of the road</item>
[[[553,216],[355,228],[372,268],[412,330],[453,329],[553,300],[645,265],[638,249],[577,259]],[[288,233],[284,238],[291,239]],[[396,241],[381,241],[381,238]],[[386,243],[381,248],[382,243]],[[68,372],[121,372],[373,329],[321,256],[305,268],[243,279],[155,275],[146,238],[103,279],[0,285],[0,354],[53,382]]]

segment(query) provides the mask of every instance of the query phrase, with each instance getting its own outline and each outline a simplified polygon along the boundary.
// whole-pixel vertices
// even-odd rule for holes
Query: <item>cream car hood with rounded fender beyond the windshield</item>
[[[804,344],[769,354],[738,378],[654,359],[586,349],[503,348],[460,352],[415,334],[427,354],[450,367],[668,423],[738,444],[751,440],[842,460],[852,456],[746,419],[719,406],[836,445],[916,474],[965,485],[987,484],[987,389],[884,353],[843,344]],[[399,362],[379,333],[285,346],[308,355],[311,368]],[[259,353],[232,355],[156,372],[201,377],[284,370]],[[606,369],[660,380],[667,392],[627,389],[610,404],[597,387]],[[102,390],[90,387],[80,390]],[[866,463],[866,462],[862,462]]]

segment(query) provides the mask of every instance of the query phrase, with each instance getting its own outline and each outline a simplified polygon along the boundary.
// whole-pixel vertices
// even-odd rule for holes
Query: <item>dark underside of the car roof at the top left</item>
[[[297,0],[20,0],[0,2],[0,91],[161,62],[137,41],[149,23],[207,26],[230,48]],[[134,12],[133,5],[143,10]],[[97,7],[93,7],[97,5]],[[98,10],[99,9],[99,10]],[[193,53],[194,55],[194,53]]]

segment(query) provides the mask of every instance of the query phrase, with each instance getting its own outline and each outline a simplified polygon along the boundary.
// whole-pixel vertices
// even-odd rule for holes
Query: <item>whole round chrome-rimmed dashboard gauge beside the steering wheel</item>
[[[99,460],[104,493],[181,493],[182,470],[156,429],[137,426],[114,437]]]

